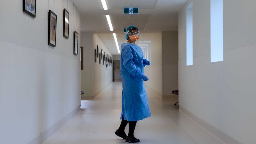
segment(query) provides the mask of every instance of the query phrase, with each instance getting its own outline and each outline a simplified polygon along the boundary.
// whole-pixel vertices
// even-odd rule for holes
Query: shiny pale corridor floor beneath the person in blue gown
[[[150,89],[147,94],[152,116],[137,122],[140,144],[223,144],[179,112],[176,100],[160,99]],[[94,99],[81,101],[81,111],[43,144],[125,143],[114,134],[121,123],[121,95],[122,83],[113,82]]]

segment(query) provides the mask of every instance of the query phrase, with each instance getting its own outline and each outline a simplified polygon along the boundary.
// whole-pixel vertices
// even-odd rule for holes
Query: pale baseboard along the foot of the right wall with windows
[[[215,128],[214,126],[211,126],[210,124],[206,123],[205,121],[201,120],[194,114],[190,113],[188,110],[186,110],[184,107],[179,105],[179,111],[186,115],[189,119],[191,119],[193,122],[195,122],[198,126],[209,132],[214,137],[221,140],[223,143],[226,144],[241,144],[237,140],[233,139],[229,135],[225,134],[224,132],[220,131],[219,129]]]

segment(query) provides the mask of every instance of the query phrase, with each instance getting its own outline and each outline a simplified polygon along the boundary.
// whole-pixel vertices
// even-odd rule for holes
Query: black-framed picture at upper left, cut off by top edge
[[[23,12],[31,17],[36,17],[36,0],[23,0]]]

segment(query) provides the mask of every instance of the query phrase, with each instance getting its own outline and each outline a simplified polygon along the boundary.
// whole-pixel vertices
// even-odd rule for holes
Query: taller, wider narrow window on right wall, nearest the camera
[[[223,61],[223,0],[211,0],[211,62]]]

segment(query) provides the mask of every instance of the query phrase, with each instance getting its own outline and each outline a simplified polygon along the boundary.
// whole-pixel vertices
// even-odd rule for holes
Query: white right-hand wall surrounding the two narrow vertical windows
[[[194,62],[186,66],[186,8],[191,2]],[[224,0],[224,61],[218,63],[210,61],[210,1],[189,0],[178,16],[180,108],[227,134],[231,143],[256,142],[255,5]]]

